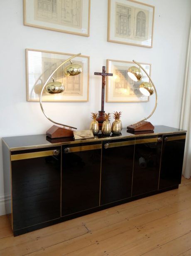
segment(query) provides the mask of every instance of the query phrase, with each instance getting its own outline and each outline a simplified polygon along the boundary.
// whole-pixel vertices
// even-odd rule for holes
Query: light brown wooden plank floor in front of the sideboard
[[[0,216],[0,256],[191,255],[191,179],[179,189],[13,237]]]

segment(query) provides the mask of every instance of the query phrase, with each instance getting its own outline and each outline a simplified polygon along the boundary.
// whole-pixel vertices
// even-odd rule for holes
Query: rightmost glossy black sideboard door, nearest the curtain
[[[181,183],[186,133],[163,136],[159,189]]]

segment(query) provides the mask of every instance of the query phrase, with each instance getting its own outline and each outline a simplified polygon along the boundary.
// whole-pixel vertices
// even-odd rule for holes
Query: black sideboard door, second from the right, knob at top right
[[[162,137],[135,138],[132,196],[157,191],[162,149]]]

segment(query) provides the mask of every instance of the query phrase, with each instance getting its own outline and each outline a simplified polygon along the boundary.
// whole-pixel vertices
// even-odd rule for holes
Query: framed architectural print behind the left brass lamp
[[[26,49],[27,101],[39,101],[42,87],[50,74],[72,55],[74,54]],[[65,76],[63,70],[65,66],[70,65],[70,61],[65,63],[53,75],[55,81],[64,84],[64,92],[53,95],[44,90],[42,101],[88,101],[89,56],[77,56],[73,58],[72,63],[79,63],[82,73]],[[52,78],[49,82],[52,82]]]

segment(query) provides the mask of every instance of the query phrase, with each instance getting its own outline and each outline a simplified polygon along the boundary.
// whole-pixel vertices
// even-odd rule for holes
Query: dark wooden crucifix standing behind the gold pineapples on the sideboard
[[[101,130],[102,123],[105,121],[105,111],[104,111],[104,98],[105,98],[105,77],[113,76],[111,73],[106,73],[105,66],[102,67],[102,73],[95,72],[94,75],[102,76],[102,90],[101,90],[101,110],[98,112],[98,118],[96,119],[99,123],[99,127]]]

